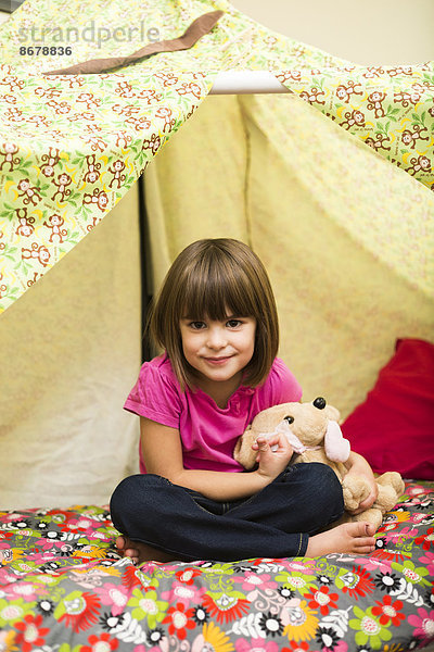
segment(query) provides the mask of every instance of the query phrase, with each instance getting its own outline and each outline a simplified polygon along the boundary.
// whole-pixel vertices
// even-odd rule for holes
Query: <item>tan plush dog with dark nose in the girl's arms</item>
[[[323,398],[311,403],[282,403],[259,412],[251,426],[238,440],[233,456],[251,471],[256,464],[257,451],[252,443],[259,435],[270,436],[283,432],[293,450],[291,464],[301,462],[321,462],[331,466],[342,482],[344,503],[347,514],[344,521],[366,521],[378,529],[383,514],[392,510],[404,492],[404,481],[396,472],[387,472],[375,478],[379,494],[373,505],[357,515],[348,512],[356,510],[369,496],[370,488],[363,477],[347,475],[345,462],[348,460],[349,441],[344,439],[340,425],[340,413],[327,405]]]

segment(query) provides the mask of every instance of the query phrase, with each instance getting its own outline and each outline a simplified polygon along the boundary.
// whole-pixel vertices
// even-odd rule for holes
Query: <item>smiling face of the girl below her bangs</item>
[[[183,354],[199,372],[199,386],[205,389],[226,383],[234,390],[255,350],[255,317],[228,315],[221,322],[183,317],[180,328]]]

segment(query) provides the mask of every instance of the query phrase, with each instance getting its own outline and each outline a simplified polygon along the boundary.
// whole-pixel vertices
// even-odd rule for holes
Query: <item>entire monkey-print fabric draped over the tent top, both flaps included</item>
[[[118,202],[219,71],[272,71],[376,153],[434,187],[432,63],[354,65],[268,30],[226,0],[102,4],[27,0],[0,28],[0,312]],[[131,54],[146,34],[176,38],[216,10],[225,14],[188,50],[106,74],[43,75]]]

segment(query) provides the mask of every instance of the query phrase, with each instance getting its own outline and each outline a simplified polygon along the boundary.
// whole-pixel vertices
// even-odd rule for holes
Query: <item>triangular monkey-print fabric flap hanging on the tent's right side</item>
[[[346,65],[277,78],[434,190],[434,66]]]

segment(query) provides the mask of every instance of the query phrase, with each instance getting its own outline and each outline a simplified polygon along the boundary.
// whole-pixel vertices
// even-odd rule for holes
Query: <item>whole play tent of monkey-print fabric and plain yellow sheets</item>
[[[42,74],[184,40],[216,11],[225,13],[190,49],[110,73]],[[380,155],[396,158],[406,128],[421,136],[409,151],[432,147],[411,126],[418,114],[431,129],[426,66],[371,68],[380,75],[372,82],[368,68],[272,34],[226,2],[199,0],[26,0],[0,40],[0,304],[10,306],[0,319],[1,507],[105,504],[138,471],[139,423],[123,404],[141,364],[141,246],[152,292],[197,238],[251,244],[275,289],[279,354],[304,400],[324,396],[342,416],[363,400],[397,337],[433,339],[434,196],[404,159]],[[71,54],[17,59],[38,42],[69,45]],[[208,97],[221,71],[254,68],[292,75],[293,92]],[[387,78],[390,88],[417,76],[426,88],[411,109],[395,96],[382,101],[385,112],[407,112],[375,122],[388,125],[390,152],[368,147],[370,120],[356,137],[355,125],[341,126],[372,92],[355,86],[339,100],[339,79],[350,89],[356,76],[362,85]],[[319,85],[324,96],[303,95]],[[135,180],[144,168],[140,242]]]

